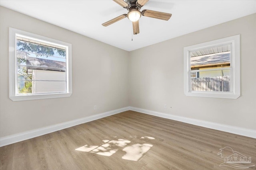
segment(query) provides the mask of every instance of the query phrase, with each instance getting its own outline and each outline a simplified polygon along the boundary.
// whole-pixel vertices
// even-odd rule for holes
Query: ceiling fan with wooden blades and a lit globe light
[[[122,14],[112,20],[109,20],[105,23],[102,23],[103,26],[108,26],[112,23],[115,23],[119,20],[122,20],[126,17],[130,21],[132,21],[132,28],[133,28],[133,34],[140,33],[140,27],[139,27],[139,19],[141,16],[156,18],[160,20],[166,20],[168,21],[172,14],[164,13],[164,12],[158,12],[158,11],[152,11],[152,10],[143,10],[140,12],[140,8],[144,6],[148,0],[113,0],[120,6],[126,8],[129,12],[127,14]]]

